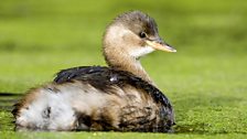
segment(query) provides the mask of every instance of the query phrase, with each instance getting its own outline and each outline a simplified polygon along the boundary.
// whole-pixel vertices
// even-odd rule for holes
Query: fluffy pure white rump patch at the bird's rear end
[[[69,96],[65,93],[53,93],[52,90],[41,89],[39,98],[22,108],[17,122],[23,127],[33,127],[37,129],[66,130],[75,121],[74,110],[69,103]],[[51,108],[49,117],[45,116],[47,108]]]

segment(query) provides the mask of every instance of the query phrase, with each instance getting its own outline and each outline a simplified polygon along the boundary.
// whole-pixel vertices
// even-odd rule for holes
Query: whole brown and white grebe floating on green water
[[[153,18],[138,10],[117,15],[103,36],[108,66],[62,70],[28,90],[12,110],[15,130],[172,132],[172,104],[140,63],[155,50],[176,52]]]

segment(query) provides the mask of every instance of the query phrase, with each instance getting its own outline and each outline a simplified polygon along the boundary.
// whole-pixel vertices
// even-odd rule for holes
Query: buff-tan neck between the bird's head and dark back
[[[136,76],[144,79],[146,82],[154,85],[144,68],[141,66],[139,60],[136,60],[135,57],[128,55],[121,55],[121,53],[117,52],[111,52],[110,54],[104,52],[104,55],[108,66],[115,70],[132,73]]]

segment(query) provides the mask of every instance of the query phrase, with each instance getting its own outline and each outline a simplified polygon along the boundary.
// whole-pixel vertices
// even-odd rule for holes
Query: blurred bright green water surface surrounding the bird
[[[100,49],[105,28],[129,10],[154,18],[160,35],[178,50],[142,58],[150,76],[174,105],[178,125],[175,135],[119,133],[119,138],[244,137],[246,0],[1,0],[0,94],[24,94],[52,81],[62,68],[105,65]],[[3,137],[14,133],[10,106],[15,99],[0,98]],[[98,137],[103,136],[115,138],[116,133]]]

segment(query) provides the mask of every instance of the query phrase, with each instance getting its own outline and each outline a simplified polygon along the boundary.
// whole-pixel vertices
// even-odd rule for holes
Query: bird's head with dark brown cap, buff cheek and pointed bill
[[[139,58],[154,50],[176,52],[159,35],[155,21],[140,12],[131,11],[117,17],[104,35],[104,52]]]

